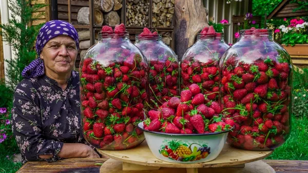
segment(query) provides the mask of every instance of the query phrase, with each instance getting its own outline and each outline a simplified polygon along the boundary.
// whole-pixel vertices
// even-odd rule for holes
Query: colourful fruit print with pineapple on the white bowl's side
[[[189,144],[183,141],[166,140],[159,152],[171,160],[190,162],[205,159],[210,154],[210,147],[206,144]]]

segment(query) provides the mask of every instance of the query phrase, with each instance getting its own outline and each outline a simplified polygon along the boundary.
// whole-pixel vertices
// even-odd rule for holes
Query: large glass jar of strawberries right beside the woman
[[[81,113],[85,139],[104,150],[135,147],[144,140],[136,128],[144,119],[148,66],[129,41],[123,24],[104,26],[80,64]]]

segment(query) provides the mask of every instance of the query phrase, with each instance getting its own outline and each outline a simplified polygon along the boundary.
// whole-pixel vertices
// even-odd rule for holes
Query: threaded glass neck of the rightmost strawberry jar
[[[240,39],[268,39],[273,41],[272,29],[244,29],[240,30]]]

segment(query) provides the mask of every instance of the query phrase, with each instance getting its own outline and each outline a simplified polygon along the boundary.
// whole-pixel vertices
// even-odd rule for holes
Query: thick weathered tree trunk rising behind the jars
[[[202,0],[176,0],[175,17],[175,50],[180,60],[208,24]]]

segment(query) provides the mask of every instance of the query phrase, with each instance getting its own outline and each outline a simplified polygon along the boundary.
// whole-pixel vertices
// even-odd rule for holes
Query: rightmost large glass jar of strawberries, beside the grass
[[[238,148],[275,149],[290,134],[293,65],[272,32],[241,30],[220,62],[222,113],[236,122],[227,142]]]

